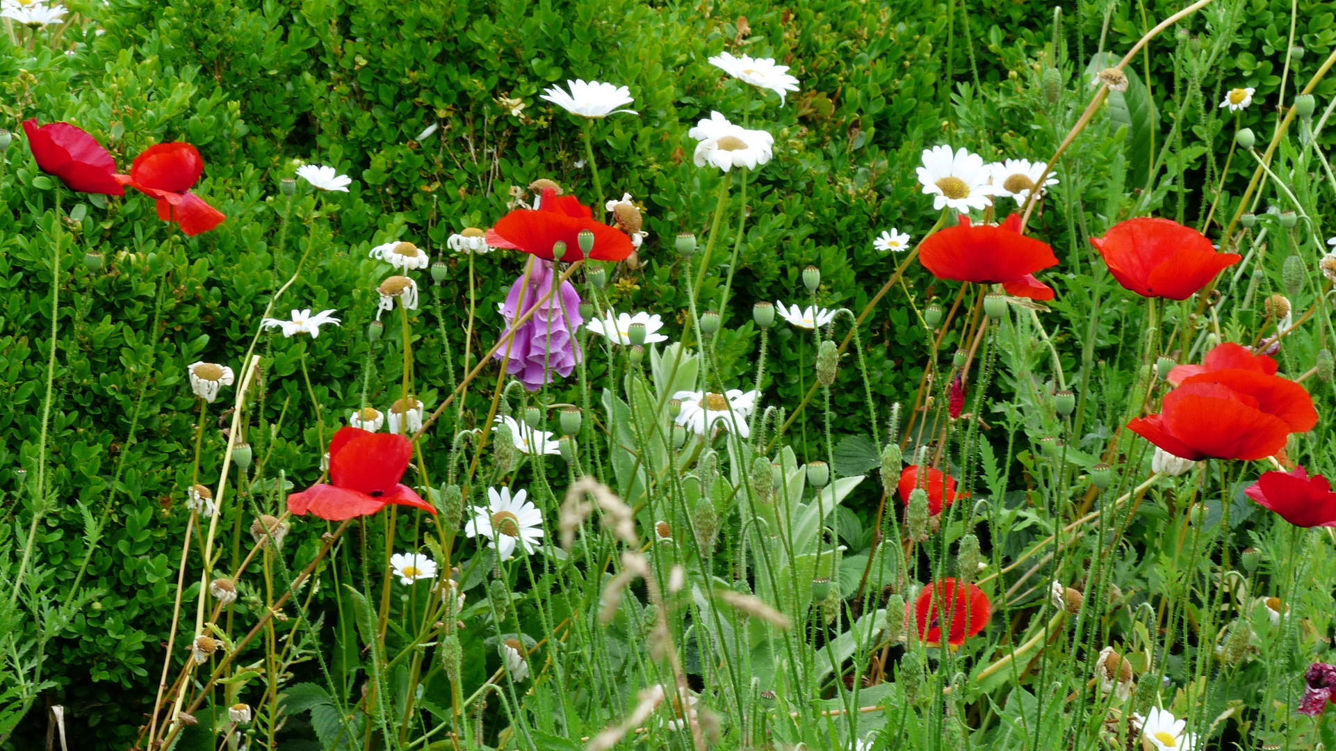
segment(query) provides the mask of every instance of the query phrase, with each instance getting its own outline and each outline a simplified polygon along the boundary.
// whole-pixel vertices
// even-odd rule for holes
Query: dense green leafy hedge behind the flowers
[[[681,323],[671,318],[685,307],[685,289],[672,237],[704,233],[719,180],[715,171],[691,163],[695,142],[685,132],[719,110],[766,127],[776,139],[775,159],[748,188],[739,294],[720,345],[725,370],[745,378],[756,346],[748,314],[755,301],[806,297],[799,271],[811,263],[823,273],[822,303],[856,313],[898,262],[876,253],[871,239],[891,226],[918,238],[931,226],[935,215],[914,174],[922,148],[950,143],[990,159],[1045,159],[1065,132],[1055,123],[1069,122],[1085,106],[1081,76],[1098,47],[1106,8],[1105,48],[1114,53],[1177,9],[1164,1],[1063,5],[1059,47],[1069,61],[1057,75],[1065,88],[1046,96],[1053,12],[1035,1],[982,0],[963,8],[899,0],[784,7],[627,0],[68,5],[100,25],[96,32],[90,25],[87,35],[77,24],[64,28],[56,47],[71,55],[44,41],[28,51],[21,33],[0,33],[0,126],[21,132],[19,122],[27,118],[72,122],[107,144],[122,168],[152,143],[191,142],[207,164],[198,192],[228,216],[218,231],[170,238],[152,204],[127,194],[87,207],[72,227],[77,249],[63,263],[69,283],[61,290],[52,426],[56,486],[68,505],[44,518],[36,564],[45,577],[72,581],[84,556],[75,501],[110,513],[108,539],[88,564],[87,584],[100,595],[57,640],[47,668],[55,682],[48,691],[67,707],[71,726],[91,727],[98,738],[80,747],[99,748],[132,742],[162,664],[198,420],[184,367],[196,359],[238,367],[266,295],[307,247],[311,265],[286,302],[333,307],[343,325],[318,339],[263,339],[265,409],[248,433],[258,456],[271,452],[270,474],[282,469],[297,485],[318,474],[321,453],[301,358],[311,369],[326,422],[346,417],[361,401],[359,363],[369,349],[365,329],[375,313],[373,287],[379,279],[378,263],[367,258],[370,247],[402,238],[437,254],[449,234],[496,220],[510,187],[537,178],[556,179],[581,202],[595,203],[588,171],[576,166],[582,154],[578,124],[538,99],[546,86],[584,78],[631,87],[639,116],[596,123],[595,142],[608,198],[625,191],[641,202],[651,237],[640,251],[644,266],[619,267],[612,278],[625,281],[609,286],[623,309],[667,314],[667,333],[677,338]],[[1216,108],[1224,91],[1257,88],[1257,103],[1242,116],[1244,124],[1256,126],[1268,118],[1267,106],[1281,83],[1289,3],[1250,0],[1242,9],[1237,39],[1202,83],[1204,98],[1182,112],[1200,139],[1228,143],[1230,119]],[[1297,9],[1307,53],[1289,76],[1307,80],[1336,37],[1333,4],[1300,1]],[[743,31],[739,16],[745,17]],[[1185,28],[1196,35],[1204,23],[1198,16]],[[1149,73],[1160,107],[1156,150],[1178,116],[1168,98],[1182,94],[1176,56],[1186,44],[1190,37],[1166,33],[1136,63],[1142,79]],[[792,65],[802,91],[784,107],[774,96],[751,96],[707,64],[707,56],[721,49],[778,57]],[[1333,90],[1336,80],[1328,79],[1317,94],[1325,99]],[[413,140],[430,124],[440,130],[422,143]],[[1269,126],[1259,132],[1269,132]],[[1112,126],[1096,128],[1082,143],[1108,152],[1109,164],[1117,164],[1114,156],[1124,150],[1132,155],[1149,148],[1124,146]],[[1181,200],[1166,200],[1164,215],[1178,211],[1193,220],[1209,158],[1181,143],[1170,143],[1170,168],[1185,175],[1185,190]],[[0,413],[0,541],[12,541],[13,522],[27,516],[28,502],[15,470],[29,466],[35,454],[51,346],[51,254],[36,224],[55,194],[33,187],[35,167],[21,139],[4,159],[0,394],[9,409]],[[337,166],[353,176],[351,191],[313,196],[302,190],[286,247],[278,247],[286,206],[278,180],[294,174],[297,159]],[[1236,162],[1233,170],[1226,191],[1237,196],[1250,166]],[[1082,192],[1106,186],[1112,172],[1070,175],[1059,167],[1059,178],[1063,183],[1042,222],[1063,259],[1050,274],[1061,283],[1062,274],[1079,273],[1086,258],[1081,229],[1098,234],[1117,216],[1081,203]],[[65,200],[69,210],[79,199]],[[731,249],[732,242],[725,235],[720,247]],[[81,262],[83,253],[94,250],[107,257],[100,274]],[[725,259],[727,253],[716,250],[713,261]],[[418,381],[436,385],[421,394],[429,409],[445,392],[446,374],[440,334],[424,331],[445,331],[458,357],[464,330],[460,302],[468,277],[458,257],[446,261],[452,274],[438,289],[444,305],[424,303],[415,343]],[[509,253],[477,259],[482,323],[474,351],[485,350],[500,329],[494,303],[521,261]],[[717,295],[720,282],[711,277],[703,298]],[[938,293],[916,266],[907,282],[921,305]],[[886,405],[911,400],[922,373],[914,313],[903,305],[903,293],[890,299],[870,318],[863,338],[874,389]],[[1114,338],[1101,334],[1101,346],[1114,346]],[[399,376],[389,339],[369,392],[373,404],[390,398]],[[804,354],[787,327],[774,342],[767,388],[792,405],[804,390],[800,382],[811,381],[804,359],[811,345]],[[949,341],[945,350],[951,349]],[[856,378],[848,365],[842,384]],[[852,381],[844,385],[835,390],[836,412],[859,413],[862,389]],[[466,414],[482,409],[489,389],[480,384],[470,392]],[[131,433],[135,440],[127,442]],[[202,480],[212,482],[226,438],[210,429],[204,440]],[[111,486],[118,474],[119,485]],[[294,544],[303,545],[305,560],[315,535],[315,525],[297,524]],[[44,728],[35,711],[29,735],[15,747]]]

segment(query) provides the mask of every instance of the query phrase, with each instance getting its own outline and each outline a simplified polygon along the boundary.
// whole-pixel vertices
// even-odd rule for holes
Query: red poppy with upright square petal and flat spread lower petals
[[[399,485],[413,457],[413,444],[403,436],[339,428],[330,441],[330,481],[317,482],[287,497],[287,510],[311,512],[342,521],[375,513],[385,504],[413,506],[436,513],[406,485]]]

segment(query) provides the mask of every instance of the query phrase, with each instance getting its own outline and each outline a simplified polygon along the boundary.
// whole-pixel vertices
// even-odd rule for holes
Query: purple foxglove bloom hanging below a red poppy
[[[553,373],[562,378],[570,376],[584,357],[574,335],[584,318],[580,317],[580,294],[570,282],[561,282],[560,294],[538,305],[558,278],[550,262],[530,258],[525,271],[510,285],[510,294],[501,306],[506,333],[513,327],[512,321],[529,309],[537,310],[516,329],[514,338],[501,345],[492,357],[505,359],[506,373],[520,378],[524,388],[536,392],[553,380]]]

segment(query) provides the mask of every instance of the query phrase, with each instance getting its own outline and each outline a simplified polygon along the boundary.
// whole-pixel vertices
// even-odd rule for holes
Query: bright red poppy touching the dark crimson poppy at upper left
[[[156,143],[135,156],[130,175],[120,180],[158,199],[158,218],[176,222],[190,237],[207,233],[227,216],[190,192],[204,171],[199,151],[180,142]]]

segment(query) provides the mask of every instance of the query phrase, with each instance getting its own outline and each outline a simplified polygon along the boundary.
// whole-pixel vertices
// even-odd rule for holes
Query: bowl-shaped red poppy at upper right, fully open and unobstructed
[[[1090,245],[1114,279],[1141,297],[1188,299],[1221,270],[1242,261],[1216,253],[1205,235],[1178,222],[1138,216],[1118,222]]]

